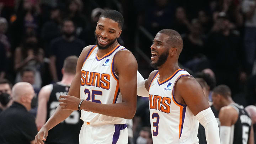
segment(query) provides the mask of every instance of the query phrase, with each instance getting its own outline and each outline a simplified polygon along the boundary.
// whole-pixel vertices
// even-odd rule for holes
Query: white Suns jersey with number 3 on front
[[[157,72],[150,82],[149,111],[154,144],[198,144],[198,121],[191,110],[174,96],[176,81],[191,76],[178,69],[166,80],[159,81]]]

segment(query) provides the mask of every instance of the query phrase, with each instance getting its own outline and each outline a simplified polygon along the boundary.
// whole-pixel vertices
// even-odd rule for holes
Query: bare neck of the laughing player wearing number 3
[[[163,81],[167,78],[169,78],[172,74],[175,73],[177,69],[180,69],[178,66],[178,63],[169,63],[165,62],[163,65],[159,66],[159,80]]]

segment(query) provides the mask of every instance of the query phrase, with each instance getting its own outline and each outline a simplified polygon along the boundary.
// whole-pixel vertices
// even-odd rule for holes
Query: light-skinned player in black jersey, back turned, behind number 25
[[[62,81],[42,87],[38,95],[37,129],[46,123],[59,106],[59,96],[68,94],[70,84],[75,77],[78,57],[69,56],[64,60]],[[73,111],[62,123],[49,130],[47,144],[78,144],[82,126],[80,111]],[[66,130],[69,132],[67,135]]]

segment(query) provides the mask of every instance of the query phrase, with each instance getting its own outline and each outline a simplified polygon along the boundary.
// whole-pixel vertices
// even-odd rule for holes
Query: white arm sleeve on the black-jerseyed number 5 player
[[[229,144],[231,126],[220,126],[220,144]]]

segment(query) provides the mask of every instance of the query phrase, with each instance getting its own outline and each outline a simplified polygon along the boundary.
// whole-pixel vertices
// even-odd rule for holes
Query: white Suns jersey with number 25
[[[117,45],[102,58],[97,56],[97,45],[89,50],[81,69],[81,99],[104,104],[122,102],[118,76],[114,73],[114,55],[123,49],[126,48]],[[110,117],[86,110],[81,111],[81,119],[92,125],[126,123],[124,118]]]

